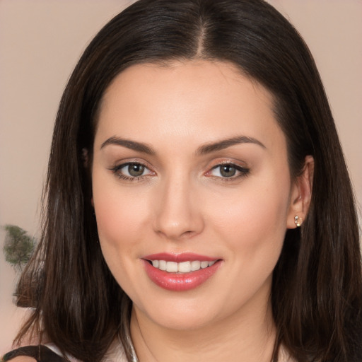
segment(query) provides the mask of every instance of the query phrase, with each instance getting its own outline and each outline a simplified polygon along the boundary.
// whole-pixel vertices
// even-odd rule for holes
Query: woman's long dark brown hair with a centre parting
[[[100,30],[74,69],[54,128],[40,246],[18,285],[35,311],[18,334],[44,331],[62,351],[100,361],[132,303],[103,259],[91,206],[91,162],[100,100],[132,64],[218,59],[274,95],[292,177],[315,159],[313,195],[288,230],[271,293],[281,344],[297,361],[362,361],[362,280],[349,175],[320,76],[293,26],[262,0],[140,0]],[[83,156],[82,156],[83,155]]]

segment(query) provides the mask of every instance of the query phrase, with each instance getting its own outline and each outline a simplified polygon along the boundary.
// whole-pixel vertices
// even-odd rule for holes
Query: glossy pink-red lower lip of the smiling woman
[[[221,265],[221,260],[218,260],[211,267],[191,271],[189,273],[168,273],[153,267],[149,262],[144,260],[144,267],[148,278],[154,284],[168,291],[189,291],[203,284],[207,279],[213,276],[218,267]]]

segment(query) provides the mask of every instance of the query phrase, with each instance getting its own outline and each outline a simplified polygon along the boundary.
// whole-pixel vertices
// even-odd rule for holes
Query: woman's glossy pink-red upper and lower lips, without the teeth
[[[144,268],[148,278],[160,288],[168,291],[189,291],[204,284],[211,276],[213,276],[219,267],[221,267],[221,259],[196,255],[193,253],[185,253],[180,255],[170,255],[168,253],[160,253],[148,255],[142,258]],[[201,262],[217,260],[214,265],[205,269],[191,271],[189,273],[168,273],[167,271],[155,268],[148,260],[166,260],[168,262],[187,262],[199,260]]]

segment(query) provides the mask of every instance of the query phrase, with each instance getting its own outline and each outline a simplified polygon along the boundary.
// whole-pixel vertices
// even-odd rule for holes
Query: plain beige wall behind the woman
[[[0,226],[15,223],[37,235],[66,80],[97,30],[130,2],[0,0]],[[269,2],[296,25],[315,55],[361,204],[362,1]],[[11,305],[16,275],[4,261],[3,242],[0,230],[0,354],[10,348],[23,315]]]

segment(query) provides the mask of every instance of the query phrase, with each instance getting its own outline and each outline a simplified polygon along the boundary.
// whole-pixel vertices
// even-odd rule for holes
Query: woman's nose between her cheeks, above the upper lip
[[[156,233],[168,240],[192,238],[204,229],[202,207],[197,201],[196,187],[185,177],[168,180],[155,194]]]

